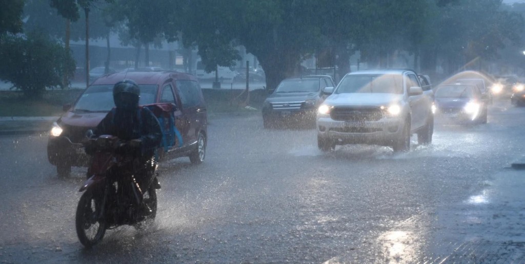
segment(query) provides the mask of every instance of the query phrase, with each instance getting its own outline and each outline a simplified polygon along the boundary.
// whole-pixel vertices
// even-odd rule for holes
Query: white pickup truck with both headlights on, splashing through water
[[[334,91],[324,92],[331,95],[317,113],[322,151],[345,144],[408,151],[414,133],[419,144],[432,142],[434,94],[422,88],[412,70],[356,71],[346,74]]]

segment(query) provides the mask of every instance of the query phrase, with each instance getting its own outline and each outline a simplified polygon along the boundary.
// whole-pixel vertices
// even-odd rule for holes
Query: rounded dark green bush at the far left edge
[[[75,72],[71,53],[45,34],[9,35],[0,40],[0,79],[12,82],[28,98],[62,85],[62,74]]]

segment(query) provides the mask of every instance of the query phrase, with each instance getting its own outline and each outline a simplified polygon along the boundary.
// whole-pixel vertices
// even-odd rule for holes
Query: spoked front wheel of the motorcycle
[[[98,219],[96,199],[91,191],[86,191],[80,197],[77,206],[75,223],[80,243],[87,248],[99,243],[106,233],[106,221]]]

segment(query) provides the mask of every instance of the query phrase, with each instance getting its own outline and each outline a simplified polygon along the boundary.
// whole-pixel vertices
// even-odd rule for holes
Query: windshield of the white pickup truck
[[[354,74],[347,75],[337,87],[340,93],[403,93],[400,74]]]

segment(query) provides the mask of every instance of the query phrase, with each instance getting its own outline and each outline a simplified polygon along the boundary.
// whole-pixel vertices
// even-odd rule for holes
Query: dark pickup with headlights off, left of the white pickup
[[[328,96],[325,89],[333,90],[331,76],[316,75],[285,79],[270,94],[262,107],[262,124],[272,127],[276,122],[297,124],[316,121],[317,108]]]

